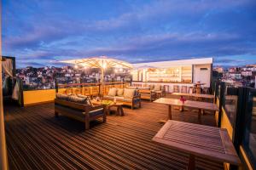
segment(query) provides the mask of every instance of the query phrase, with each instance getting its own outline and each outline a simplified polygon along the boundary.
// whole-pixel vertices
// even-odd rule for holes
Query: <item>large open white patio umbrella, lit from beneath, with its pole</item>
[[[127,63],[125,61],[119,60],[119,59],[111,59],[106,56],[100,56],[100,57],[91,57],[91,58],[84,58],[84,59],[69,59],[69,60],[63,60],[62,63],[69,63],[73,65],[80,65],[83,67],[89,67],[89,68],[99,68],[102,71],[102,89],[104,87],[104,71],[107,68],[127,68],[132,69],[132,65],[130,63]]]

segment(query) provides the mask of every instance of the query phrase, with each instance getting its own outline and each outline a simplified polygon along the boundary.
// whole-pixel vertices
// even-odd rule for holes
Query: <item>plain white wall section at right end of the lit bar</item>
[[[201,70],[201,68],[207,68],[207,70]],[[204,87],[209,88],[211,83],[211,65],[194,65],[193,82],[206,83]]]

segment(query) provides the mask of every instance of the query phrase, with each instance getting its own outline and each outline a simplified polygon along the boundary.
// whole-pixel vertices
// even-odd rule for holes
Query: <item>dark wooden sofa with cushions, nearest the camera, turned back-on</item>
[[[102,117],[103,122],[106,122],[106,112],[103,105],[90,105],[89,98],[82,95],[57,94],[55,98],[55,116],[59,114],[71,117],[85,123],[85,129],[90,128],[90,121]]]

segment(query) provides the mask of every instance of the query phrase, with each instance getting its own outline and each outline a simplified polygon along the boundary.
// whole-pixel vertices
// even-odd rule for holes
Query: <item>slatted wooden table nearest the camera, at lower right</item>
[[[173,150],[188,153],[188,169],[195,169],[195,156],[237,166],[241,164],[224,128],[169,120],[152,140]]]

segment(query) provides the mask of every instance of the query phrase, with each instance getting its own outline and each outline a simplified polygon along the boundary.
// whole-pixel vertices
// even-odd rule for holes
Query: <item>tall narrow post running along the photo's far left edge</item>
[[[0,2],[0,11],[2,12],[2,3]],[[0,14],[2,18],[2,14]],[[3,91],[2,91],[2,24],[0,23],[0,169],[8,169],[8,159],[6,151],[6,139],[3,119]]]

